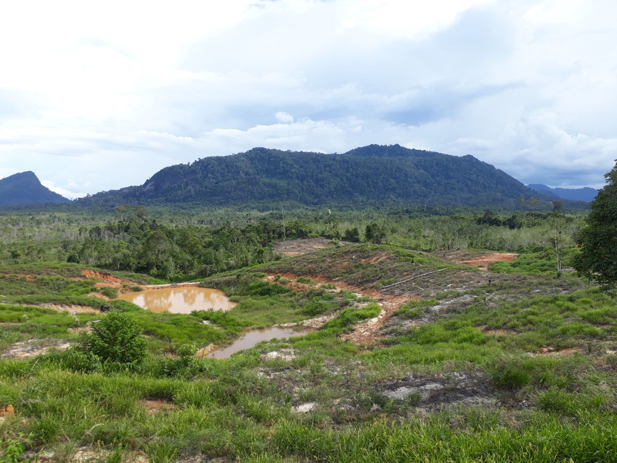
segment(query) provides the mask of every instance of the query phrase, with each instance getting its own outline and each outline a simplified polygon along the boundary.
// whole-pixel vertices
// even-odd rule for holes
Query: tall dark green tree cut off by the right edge
[[[574,269],[601,285],[617,282],[617,164],[604,178],[607,185],[591,202],[587,225],[576,236],[582,246]]]

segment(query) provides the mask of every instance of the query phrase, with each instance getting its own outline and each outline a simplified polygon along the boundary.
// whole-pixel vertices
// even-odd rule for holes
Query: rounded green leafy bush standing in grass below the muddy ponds
[[[100,322],[94,323],[92,333],[81,345],[102,361],[131,363],[146,356],[146,340],[142,328],[130,314],[109,312]]]

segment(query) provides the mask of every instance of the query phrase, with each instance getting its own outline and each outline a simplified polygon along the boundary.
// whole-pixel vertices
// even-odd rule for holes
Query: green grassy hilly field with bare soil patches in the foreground
[[[542,252],[519,259],[482,272],[335,246],[209,278],[239,304],[187,315],[93,297],[76,264],[4,265],[0,409],[15,413],[2,444],[56,462],[617,461],[615,295],[557,278]],[[73,360],[65,344],[103,305],[141,325],[143,360]],[[186,348],[302,320],[322,321],[228,359]],[[350,338],[370,323],[370,343]]]

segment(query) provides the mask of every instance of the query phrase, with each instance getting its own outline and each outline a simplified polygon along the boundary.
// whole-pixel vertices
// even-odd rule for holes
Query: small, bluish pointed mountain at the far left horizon
[[[0,206],[44,202],[69,202],[69,200],[41,185],[38,177],[30,170],[0,179]]]

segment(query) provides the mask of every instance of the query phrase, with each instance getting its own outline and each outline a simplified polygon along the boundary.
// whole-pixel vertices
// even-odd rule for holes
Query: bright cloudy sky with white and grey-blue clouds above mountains
[[[255,146],[398,143],[601,187],[615,17],[614,0],[6,2],[0,177],[77,198]]]

